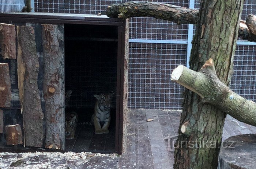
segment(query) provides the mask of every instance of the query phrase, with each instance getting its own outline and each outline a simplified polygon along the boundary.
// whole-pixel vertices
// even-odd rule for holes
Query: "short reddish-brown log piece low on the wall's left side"
[[[5,126],[6,144],[22,144],[22,130],[19,124]]]

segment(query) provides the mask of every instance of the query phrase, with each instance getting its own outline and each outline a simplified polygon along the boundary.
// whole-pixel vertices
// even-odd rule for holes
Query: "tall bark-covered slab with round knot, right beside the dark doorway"
[[[42,25],[46,138],[45,147],[65,148],[64,26]]]

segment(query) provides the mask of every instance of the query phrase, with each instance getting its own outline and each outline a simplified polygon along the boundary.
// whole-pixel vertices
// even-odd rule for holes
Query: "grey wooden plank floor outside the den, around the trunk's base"
[[[127,152],[119,168],[170,169],[174,163],[173,150],[167,137],[178,134],[181,111],[133,109],[129,112]],[[152,118],[154,121],[147,122]],[[256,127],[239,122],[227,115],[223,140],[233,135],[256,133]],[[176,138],[173,140],[175,141]]]

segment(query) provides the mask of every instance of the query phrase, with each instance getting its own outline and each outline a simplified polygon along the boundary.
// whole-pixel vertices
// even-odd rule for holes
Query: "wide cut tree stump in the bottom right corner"
[[[252,169],[256,166],[256,134],[235,135],[223,141],[218,169]]]

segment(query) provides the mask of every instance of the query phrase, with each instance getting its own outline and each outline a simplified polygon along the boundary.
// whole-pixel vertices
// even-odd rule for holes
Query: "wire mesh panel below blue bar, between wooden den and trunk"
[[[186,64],[186,44],[130,43],[130,108],[180,109],[184,88],[172,82],[171,70]]]

